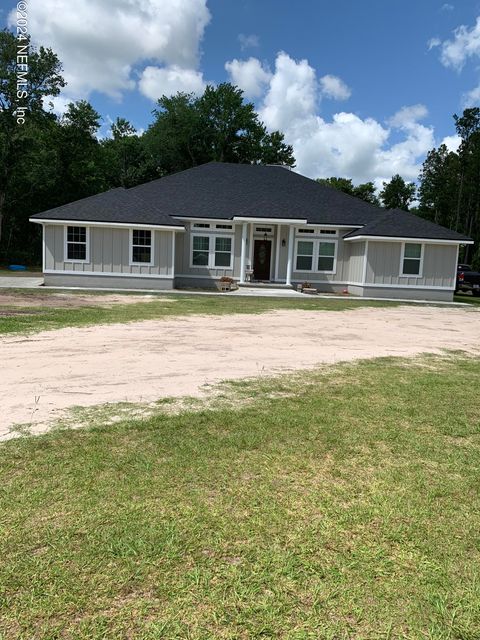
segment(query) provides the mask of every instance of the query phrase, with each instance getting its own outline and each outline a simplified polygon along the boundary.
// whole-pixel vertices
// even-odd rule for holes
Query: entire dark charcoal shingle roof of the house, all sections
[[[399,209],[385,211],[280,166],[210,162],[132,189],[112,189],[32,218],[183,227],[173,217],[256,217],[362,227],[348,234],[468,241]]]

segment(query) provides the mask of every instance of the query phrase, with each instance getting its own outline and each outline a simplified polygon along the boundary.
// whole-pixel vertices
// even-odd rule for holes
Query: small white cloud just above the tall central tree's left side
[[[141,93],[155,101],[163,95],[172,96],[179,91],[200,95],[205,86],[200,71],[182,69],[176,65],[166,68],[146,67],[138,83]]]

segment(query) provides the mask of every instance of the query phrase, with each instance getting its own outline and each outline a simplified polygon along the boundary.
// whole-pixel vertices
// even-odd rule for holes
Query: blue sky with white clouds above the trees
[[[380,186],[417,180],[458,146],[453,114],[480,105],[480,0],[27,0],[34,43],[59,55],[58,113],[88,99],[139,131],[162,95],[230,81],[296,171]],[[14,28],[16,4],[0,0]]]

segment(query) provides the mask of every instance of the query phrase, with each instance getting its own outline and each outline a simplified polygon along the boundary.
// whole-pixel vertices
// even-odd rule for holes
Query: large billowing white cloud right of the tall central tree
[[[395,173],[417,179],[426,152],[435,146],[433,129],[418,122],[427,115],[423,105],[400,109],[387,125],[347,112],[327,121],[318,114],[320,93],[306,60],[277,56],[260,115],[269,129],[285,133],[300,173],[373,180],[377,186]],[[391,143],[393,130],[403,136],[399,142]]]

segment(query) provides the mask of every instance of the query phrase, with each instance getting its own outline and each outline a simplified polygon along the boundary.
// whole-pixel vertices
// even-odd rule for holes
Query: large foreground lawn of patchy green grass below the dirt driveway
[[[5,443],[0,638],[478,640],[478,388],[384,359]]]

